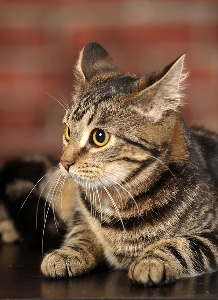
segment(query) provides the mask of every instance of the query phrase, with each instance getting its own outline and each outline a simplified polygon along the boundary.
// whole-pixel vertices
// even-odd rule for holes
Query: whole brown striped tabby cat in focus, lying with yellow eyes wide
[[[218,269],[218,135],[181,115],[184,58],[137,78],[98,43],[81,51],[60,160],[79,195],[62,246],[42,260],[45,276],[107,261],[148,287]]]

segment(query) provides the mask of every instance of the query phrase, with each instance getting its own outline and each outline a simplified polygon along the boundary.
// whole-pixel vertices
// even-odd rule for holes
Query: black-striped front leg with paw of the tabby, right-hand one
[[[153,286],[211,272],[218,268],[215,234],[176,237],[148,246],[129,268],[133,284]]]

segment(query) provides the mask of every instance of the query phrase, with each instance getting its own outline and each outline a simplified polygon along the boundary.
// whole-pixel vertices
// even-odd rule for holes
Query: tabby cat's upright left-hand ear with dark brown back
[[[82,49],[76,64],[77,77],[83,82],[90,81],[97,74],[115,72],[117,70],[112,58],[96,42],[89,42]]]

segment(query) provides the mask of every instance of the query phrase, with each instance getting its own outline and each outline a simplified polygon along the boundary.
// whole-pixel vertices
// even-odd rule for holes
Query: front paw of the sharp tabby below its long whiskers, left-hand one
[[[47,254],[41,271],[46,277],[76,277],[94,268],[96,261],[92,254],[84,250],[59,249]]]

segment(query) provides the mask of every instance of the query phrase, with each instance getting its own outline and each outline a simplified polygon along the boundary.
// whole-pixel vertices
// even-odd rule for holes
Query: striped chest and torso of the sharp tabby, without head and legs
[[[100,207],[98,207],[96,213],[97,221],[93,220],[90,215],[87,216],[88,226],[96,233],[106,259],[115,268],[129,267],[142,254],[145,247],[160,240],[164,241],[187,235],[206,237],[207,233],[218,233],[218,172],[216,168],[218,159],[215,155],[216,164],[213,164],[214,157],[212,153],[210,152],[210,157],[208,157],[205,148],[198,148],[195,139],[197,136],[197,139],[203,143],[206,142],[206,147],[214,142],[218,147],[218,136],[196,129],[191,130],[190,133],[193,138],[191,146],[194,148],[191,150],[193,164],[184,166],[182,169],[176,164],[168,165],[169,169],[163,171],[157,181],[146,190],[144,188],[143,191],[138,190],[137,193],[133,194],[139,207],[139,216],[137,207],[131,197],[129,195],[126,197],[126,206],[122,208],[122,203],[119,203],[120,201],[117,199],[117,192],[114,192],[112,188],[108,188],[108,191],[116,202],[123,224],[119,216],[116,215],[115,208],[110,204],[111,201],[106,192],[100,196],[103,207],[102,223]],[[207,161],[202,157],[204,152],[208,158]],[[204,165],[204,169],[202,165]],[[211,173],[209,173],[210,171]],[[206,174],[206,172],[208,173]],[[214,186],[216,189],[214,189]],[[125,187],[127,188],[128,185]],[[125,199],[126,195],[122,194],[122,190],[119,190],[119,193]],[[198,201],[195,200],[196,197]],[[86,198],[89,197],[86,196]],[[91,214],[90,202],[84,201],[84,199],[85,195],[83,194],[82,200],[78,203],[78,206],[82,207],[81,213],[88,210]],[[147,205],[144,202],[148,202]],[[178,249],[180,246],[179,250],[181,252],[184,250],[184,258],[185,255],[189,255],[189,253],[185,253],[187,249],[186,242],[189,242],[188,238],[181,240],[180,244],[178,241],[177,244]],[[198,248],[198,245],[195,244],[196,242],[193,240],[192,246]],[[175,251],[173,246],[169,246],[169,250]],[[201,253],[198,248],[196,256],[200,255],[198,251]],[[204,254],[207,253],[208,250]],[[211,253],[210,256],[212,257],[208,257],[208,261],[215,259]],[[194,272],[197,273],[196,270]]]

